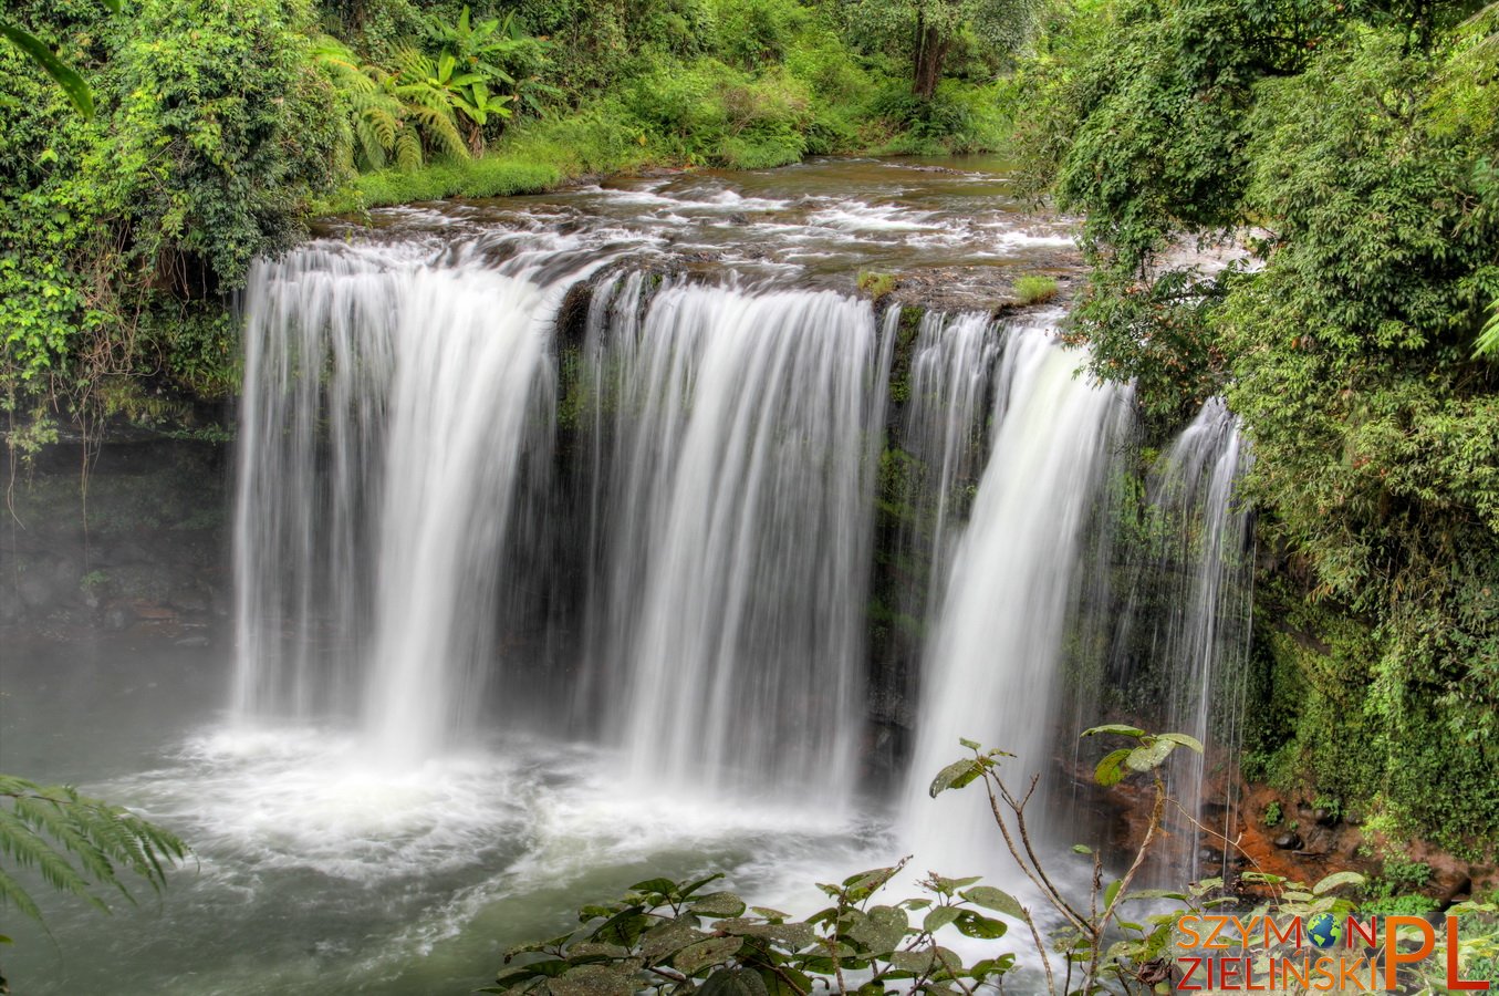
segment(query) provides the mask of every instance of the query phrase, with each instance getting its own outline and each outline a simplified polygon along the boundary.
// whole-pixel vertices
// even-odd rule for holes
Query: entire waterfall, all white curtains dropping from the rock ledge
[[[991,867],[994,831],[977,794],[932,801],[929,778],[959,736],[1013,752],[1015,784],[1049,770],[1061,672],[1102,657],[1094,630],[1148,644],[1169,726],[1211,740],[1249,612],[1222,404],[1157,464],[1163,538],[1123,621],[1079,622],[1111,602],[1099,524],[1129,412],[1051,324],[923,316],[887,424],[898,310],[639,272],[579,288],[607,255],[435,244],[322,242],[252,273],[240,717],[354,722],[370,758],[412,762],[526,712],[541,675],[637,784],[833,810],[884,750],[872,674],[919,688],[887,726],[914,728],[902,826],[955,873]],[[562,309],[570,288],[586,297]],[[896,680],[866,630],[887,429],[913,514],[881,584],[926,628]],[[1196,818],[1202,776],[1175,784]]]

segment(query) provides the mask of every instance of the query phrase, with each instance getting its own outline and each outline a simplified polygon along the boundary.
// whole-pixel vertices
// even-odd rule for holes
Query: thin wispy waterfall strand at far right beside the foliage
[[[1247,459],[1238,420],[1220,399],[1210,399],[1151,474],[1147,508],[1154,544],[1139,558],[1120,616],[1124,664],[1117,669],[1133,680],[1133,698],[1156,699],[1160,729],[1190,734],[1210,748],[1208,756],[1178,752],[1168,777],[1172,798],[1195,820],[1168,819],[1165,862],[1178,882],[1183,873],[1195,880],[1205,872],[1195,824],[1231,836],[1231,807],[1208,819],[1204,786],[1210,758],[1217,748],[1231,753],[1240,728],[1253,525],[1249,508],[1234,501],[1234,483]]]

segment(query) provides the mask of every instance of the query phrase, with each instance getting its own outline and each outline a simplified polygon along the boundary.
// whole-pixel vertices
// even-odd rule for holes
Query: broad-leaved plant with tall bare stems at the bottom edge
[[[1154,914],[1138,924],[1120,920],[1118,910],[1138,900],[1171,900],[1201,909],[1204,897],[1222,885],[1220,880],[1204,882],[1186,892],[1129,891],[1166,806],[1159,768],[1177,747],[1201,750],[1202,746],[1181,734],[1153,735],[1132,726],[1100,726],[1085,735],[1099,734],[1136,741],[1100,762],[1099,782],[1114,784],[1129,772],[1148,772],[1156,784],[1156,807],[1150,832],[1129,872],[1108,888],[1102,885],[1102,856],[1084,849],[1094,862],[1087,903],[1066,897],[1042,867],[1025,824],[1025,804],[1036,782],[1022,796],[1010,792],[1000,777],[1000,764],[1010,754],[965,740],[962,744],[973,756],[943,768],[931,784],[935,796],[983,783],[1010,855],[1067,924],[1055,948],[1066,964],[1060,987],[1052,968],[1054,950],[1043,939],[1037,918],[1012,894],[979,885],[977,878],[949,879],[932,873],[919,882],[925,896],[875,903],[875,896],[905,866],[902,860],[851,874],[839,885],[820,884],[832,906],[806,920],[750,908],[733,892],[703,892],[721,878],[718,874],[696,882],[637,882],[615,903],[585,906],[579,930],[511,948],[507,964],[525,960],[504,969],[496,986],[481,992],[627,996],[640,990],[702,988],[718,994],[790,996],[824,987],[860,993],[892,988],[973,993],[980,986],[1000,984],[1015,969],[1015,954],[997,951],[965,964],[938,942],[938,932],[952,927],[967,938],[1000,940],[1010,922],[1027,928],[1049,993],[1102,992],[1109,986],[1129,992],[1138,982],[1153,984],[1169,972],[1169,966],[1163,968],[1163,952],[1177,912]],[[1072,984],[1075,975],[1082,978],[1081,990]]]

